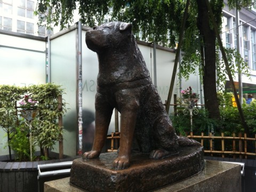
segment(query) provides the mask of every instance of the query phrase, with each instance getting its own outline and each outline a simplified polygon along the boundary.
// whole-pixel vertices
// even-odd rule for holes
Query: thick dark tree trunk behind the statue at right
[[[220,110],[217,100],[216,84],[216,56],[215,56],[215,33],[210,26],[210,17],[204,0],[197,0],[198,18],[197,27],[204,43],[204,101],[205,108],[209,111],[209,117],[220,118]]]

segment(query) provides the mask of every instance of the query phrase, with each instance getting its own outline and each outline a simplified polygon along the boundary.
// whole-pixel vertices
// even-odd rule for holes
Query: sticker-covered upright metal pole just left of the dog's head
[[[78,21],[77,35],[77,86],[78,86],[78,155],[83,148],[83,119],[82,119],[82,23]]]

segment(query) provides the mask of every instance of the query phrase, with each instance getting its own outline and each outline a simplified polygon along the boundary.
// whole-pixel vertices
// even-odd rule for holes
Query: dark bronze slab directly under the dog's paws
[[[99,158],[76,159],[70,171],[70,183],[88,191],[149,191],[188,178],[203,169],[203,147],[179,147],[177,155],[150,159],[149,154],[132,154],[131,165],[124,170],[112,167],[117,153]]]

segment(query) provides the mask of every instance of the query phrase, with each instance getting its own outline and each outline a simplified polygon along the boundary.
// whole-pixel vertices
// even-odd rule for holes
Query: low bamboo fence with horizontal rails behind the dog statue
[[[193,135],[193,132],[190,132],[190,135],[187,136],[191,139],[201,140],[201,145],[204,146],[204,153],[210,153],[211,156],[213,154],[221,155],[221,157],[225,157],[225,155],[233,155],[233,158],[237,158],[237,155],[239,155],[239,158],[246,158],[248,156],[254,156],[256,157],[256,134],[255,138],[248,138],[246,133],[242,135],[242,133],[238,134],[238,137],[236,137],[235,133],[233,133],[232,137],[226,137],[224,136],[224,133],[221,133],[221,136],[215,136],[212,133],[209,135],[204,135],[202,133],[201,135]],[[119,139],[120,139],[120,133],[119,132],[113,132],[107,139],[111,139],[111,149],[108,149],[108,152],[116,151],[119,147]],[[214,143],[218,142],[217,140],[220,140],[220,147],[221,150],[216,150],[214,148]],[[231,145],[230,145],[231,141]],[[226,150],[227,149],[227,142],[229,142],[229,147],[231,146],[232,150]],[[247,151],[248,148],[248,142],[250,143],[250,148],[254,151]],[[225,145],[226,143],[226,145]]]

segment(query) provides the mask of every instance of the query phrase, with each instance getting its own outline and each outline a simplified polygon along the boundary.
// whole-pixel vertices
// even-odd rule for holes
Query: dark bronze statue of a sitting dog
[[[159,159],[177,153],[181,142],[195,144],[177,137],[151,82],[130,23],[105,23],[87,31],[85,41],[98,54],[99,74],[95,138],[92,150],[84,153],[83,159],[100,155],[114,108],[121,113],[121,140],[118,157],[113,162],[115,169],[129,166],[132,149]]]

